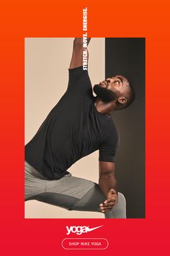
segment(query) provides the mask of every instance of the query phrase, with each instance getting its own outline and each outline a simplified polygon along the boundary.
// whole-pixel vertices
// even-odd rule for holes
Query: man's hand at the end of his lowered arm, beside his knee
[[[107,212],[108,210],[112,209],[115,204],[117,204],[117,201],[117,192],[115,191],[115,189],[110,189],[107,194],[107,200],[104,200],[104,202],[99,205],[100,210],[102,211],[102,213]]]

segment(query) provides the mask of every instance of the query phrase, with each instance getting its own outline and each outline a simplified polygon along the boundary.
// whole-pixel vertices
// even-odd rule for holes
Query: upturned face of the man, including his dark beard
[[[126,95],[129,88],[128,80],[122,75],[107,78],[99,82],[99,85],[94,85],[94,93],[104,103],[117,100],[120,96]]]

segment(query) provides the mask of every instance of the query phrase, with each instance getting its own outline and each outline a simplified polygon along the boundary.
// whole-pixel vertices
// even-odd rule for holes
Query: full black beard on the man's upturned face
[[[97,98],[99,98],[104,103],[109,103],[117,99],[117,93],[107,88],[102,88],[100,85],[94,85],[93,90],[94,93],[96,93]]]

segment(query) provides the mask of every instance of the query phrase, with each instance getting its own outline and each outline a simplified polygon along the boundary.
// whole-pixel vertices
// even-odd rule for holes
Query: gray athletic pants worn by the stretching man
[[[117,204],[102,213],[99,204],[106,197],[97,183],[71,174],[61,179],[48,180],[27,161],[24,162],[24,199],[46,202],[66,210],[100,212],[105,218],[126,218],[126,202],[122,193],[118,192]]]

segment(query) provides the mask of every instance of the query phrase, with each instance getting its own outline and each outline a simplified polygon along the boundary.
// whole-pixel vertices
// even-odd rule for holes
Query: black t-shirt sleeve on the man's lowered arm
[[[99,161],[115,163],[118,147],[119,134],[118,132],[112,132],[99,147]]]

